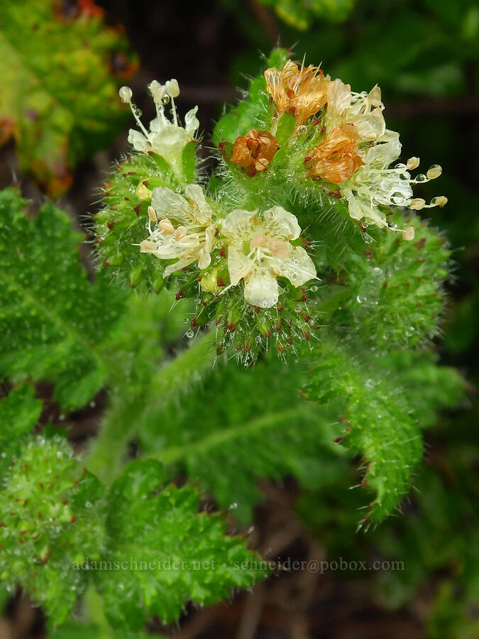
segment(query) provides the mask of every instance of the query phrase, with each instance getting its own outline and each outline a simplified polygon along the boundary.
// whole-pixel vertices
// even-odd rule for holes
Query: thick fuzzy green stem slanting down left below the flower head
[[[90,471],[106,484],[114,481],[123,466],[128,442],[135,437],[136,427],[143,421],[142,414],[148,410],[148,400],[158,397],[166,404],[210,368],[215,356],[212,343],[209,334],[197,338],[192,346],[155,373],[143,393],[134,397],[119,393],[111,398],[111,406],[87,457]]]

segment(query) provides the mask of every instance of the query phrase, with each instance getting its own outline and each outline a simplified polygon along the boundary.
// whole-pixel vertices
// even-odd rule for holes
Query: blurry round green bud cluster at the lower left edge
[[[31,439],[0,491],[0,577],[21,585],[62,623],[87,583],[76,567],[99,557],[103,487],[82,469],[62,437]]]

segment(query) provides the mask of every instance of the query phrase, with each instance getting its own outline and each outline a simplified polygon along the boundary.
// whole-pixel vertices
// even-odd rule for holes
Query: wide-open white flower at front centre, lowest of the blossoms
[[[300,232],[296,217],[282,207],[272,207],[262,214],[244,209],[231,211],[221,226],[221,233],[229,241],[230,286],[244,279],[245,300],[268,308],[278,300],[278,275],[294,286],[316,278],[307,252],[290,244]]]

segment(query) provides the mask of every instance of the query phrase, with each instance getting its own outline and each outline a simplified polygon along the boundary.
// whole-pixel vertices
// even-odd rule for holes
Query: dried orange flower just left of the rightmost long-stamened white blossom
[[[358,155],[359,133],[353,124],[343,124],[328,133],[306,158],[309,177],[340,184],[363,165]]]

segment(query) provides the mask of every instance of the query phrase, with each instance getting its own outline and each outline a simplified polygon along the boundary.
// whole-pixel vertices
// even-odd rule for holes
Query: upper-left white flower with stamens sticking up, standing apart
[[[182,179],[182,153],[187,143],[194,140],[194,136],[199,127],[199,121],[196,117],[198,107],[194,107],[187,112],[185,116],[185,127],[178,124],[177,112],[175,107],[175,97],[180,94],[178,82],[174,78],[167,80],[165,85],[160,84],[156,80],[150,83],[149,89],[153,95],[153,101],[156,107],[156,117],[150,122],[150,130],[147,131],[140,120],[138,109],[131,104],[131,89],[129,87],[121,87],[120,97],[123,102],[128,102],[131,106],[133,116],[141,131],[130,129],[128,133],[128,142],[133,145],[136,151],[141,153],[158,153],[171,166],[173,172]],[[171,102],[172,121],[165,116],[165,105]]]

